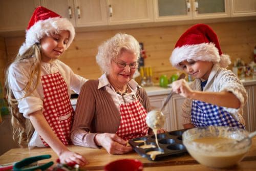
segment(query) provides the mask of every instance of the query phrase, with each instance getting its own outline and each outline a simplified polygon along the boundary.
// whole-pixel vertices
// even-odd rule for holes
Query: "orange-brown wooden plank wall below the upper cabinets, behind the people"
[[[60,57],[75,73],[97,79],[101,71],[95,56],[98,46],[117,32],[133,35],[144,43],[147,58],[145,65],[153,68],[153,81],[158,82],[161,74],[170,77],[178,70],[169,62],[169,56],[180,35],[191,25],[151,27],[140,29],[120,29],[76,33],[70,48]],[[229,54],[231,61],[242,58],[246,63],[253,59],[256,46],[256,20],[209,24],[219,37],[222,52]],[[16,55],[24,37],[6,38],[8,59]],[[231,67],[230,67],[231,68]],[[229,68],[229,69],[230,69]]]

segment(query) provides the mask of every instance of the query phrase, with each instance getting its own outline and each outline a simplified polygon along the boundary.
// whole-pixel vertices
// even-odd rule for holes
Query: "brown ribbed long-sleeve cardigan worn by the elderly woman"
[[[75,145],[98,147],[94,142],[97,133],[116,133],[120,124],[119,111],[104,87],[97,89],[99,80],[83,84],[77,99],[71,140]],[[136,97],[146,111],[151,111],[150,101],[143,88]]]

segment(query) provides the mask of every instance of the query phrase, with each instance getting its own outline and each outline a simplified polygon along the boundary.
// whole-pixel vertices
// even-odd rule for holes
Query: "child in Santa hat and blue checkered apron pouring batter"
[[[230,59],[222,54],[214,30],[205,24],[189,28],[177,41],[170,62],[195,78],[189,85],[184,79],[173,82],[173,91],[186,98],[185,129],[211,125],[245,129],[247,93],[239,78],[225,69]]]

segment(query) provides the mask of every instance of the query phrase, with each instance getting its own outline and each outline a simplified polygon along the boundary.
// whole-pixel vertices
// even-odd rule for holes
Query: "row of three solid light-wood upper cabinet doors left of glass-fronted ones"
[[[40,0],[76,27],[153,22],[152,0]]]

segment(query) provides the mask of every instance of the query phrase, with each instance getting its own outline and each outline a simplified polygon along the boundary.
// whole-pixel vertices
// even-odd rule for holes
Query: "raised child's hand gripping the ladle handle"
[[[172,88],[175,93],[180,94],[185,98],[191,98],[193,95],[193,90],[189,88],[185,79],[174,81]]]

